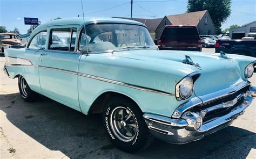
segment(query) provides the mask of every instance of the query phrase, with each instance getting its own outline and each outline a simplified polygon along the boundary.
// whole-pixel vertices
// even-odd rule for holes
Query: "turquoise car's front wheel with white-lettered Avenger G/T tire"
[[[150,146],[153,136],[137,104],[124,97],[113,97],[105,105],[104,127],[114,146],[134,153]]]

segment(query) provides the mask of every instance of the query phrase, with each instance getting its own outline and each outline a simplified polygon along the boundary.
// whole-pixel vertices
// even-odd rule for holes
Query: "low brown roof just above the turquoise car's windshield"
[[[156,18],[156,19],[144,19],[144,18],[126,18],[126,17],[113,17],[113,18],[122,18],[122,19],[130,19],[139,21],[140,23],[143,23],[147,26],[147,30],[149,31],[155,31],[160,24],[160,22],[163,20],[163,18]]]

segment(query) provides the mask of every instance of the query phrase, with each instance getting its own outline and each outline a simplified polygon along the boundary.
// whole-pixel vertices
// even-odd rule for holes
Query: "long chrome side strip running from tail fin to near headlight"
[[[158,93],[160,95],[174,96],[174,94],[169,93],[169,92],[155,90],[155,89],[151,89],[151,88],[145,88],[144,86],[138,86],[138,85],[134,85],[134,84],[124,83],[124,82],[115,81],[115,80],[107,79],[107,78],[103,78],[103,77],[78,73],[76,71],[70,71],[70,70],[52,68],[52,67],[36,66],[36,65],[25,65],[25,64],[12,64],[12,65],[9,65],[9,66],[32,66],[32,67],[38,67],[38,68],[43,68],[43,69],[56,70],[56,71],[61,71],[63,73],[68,73],[68,74],[83,76],[83,77],[87,77],[87,78],[97,79],[98,81],[103,81],[103,82],[108,82],[108,83],[112,83],[112,84],[122,85],[122,86],[126,86],[126,87],[129,87],[129,88],[137,89],[137,90]]]

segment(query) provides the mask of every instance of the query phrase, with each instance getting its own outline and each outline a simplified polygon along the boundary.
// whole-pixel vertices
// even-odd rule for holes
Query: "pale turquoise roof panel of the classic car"
[[[137,24],[143,25],[138,21],[129,20],[129,19],[121,19],[121,18],[104,18],[104,17],[76,17],[76,18],[63,18],[57,20],[48,21],[42,25],[36,27],[36,29],[41,29],[48,26],[58,26],[58,25],[79,25],[82,26],[83,24],[91,24],[91,23],[124,23],[124,24]]]

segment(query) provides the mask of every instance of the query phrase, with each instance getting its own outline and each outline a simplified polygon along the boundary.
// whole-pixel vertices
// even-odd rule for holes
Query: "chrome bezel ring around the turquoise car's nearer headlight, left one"
[[[186,100],[188,98],[190,98],[193,94],[194,91],[194,82],[197,80],[197,78],[200,76],[201,74],[198,72],[194,72],[190,75],[187,75],[186,77],[184,77],[183,79],[181,79],[177,84],[176,84],[176,90],[175,90],[175,94],[176,94],[176,99],[177,100]],[[191,82],[191,90],[188,93],[188,95],[184,96],[184,94],[181,92],[181,86],[183,83],[190,81]]]

